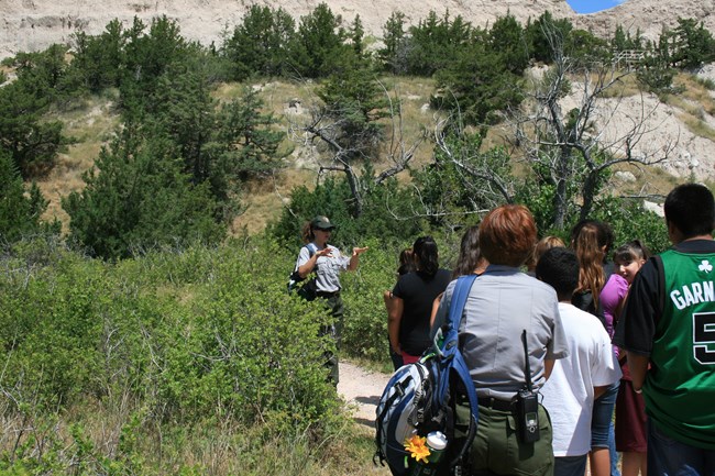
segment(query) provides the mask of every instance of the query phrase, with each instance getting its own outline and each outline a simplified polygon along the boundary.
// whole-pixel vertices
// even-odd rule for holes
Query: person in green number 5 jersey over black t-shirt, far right
[[[664,203],[673,246],[628,292],[614,342],[626,350],[648,414],[648,474],[715,474],[715,200],[685,184]],[[650,364],[650,366],[649,366]]]

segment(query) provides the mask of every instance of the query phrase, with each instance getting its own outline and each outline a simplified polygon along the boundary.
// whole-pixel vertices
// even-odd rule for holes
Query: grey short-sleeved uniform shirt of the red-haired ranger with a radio
[[[444,322],[457,281],[444,291],[433,330]],[[510,400],[526,384],[522,331],[531,381],[539,389],[543,361],[568,355],[566,340],[553,288],[509,266],[490,265],[479,276],[460,322],[460,346],[477,397]]]

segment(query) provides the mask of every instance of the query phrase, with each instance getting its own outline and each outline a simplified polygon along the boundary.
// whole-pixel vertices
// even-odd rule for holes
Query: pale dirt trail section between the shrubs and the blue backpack
[[[375,408],[388,379],[388,374],[365,370],[349,362],[340,362],[338,394],[345,399],[358,423],[370,429],[375,428]]]

